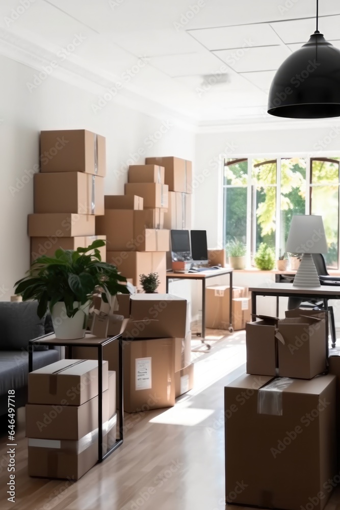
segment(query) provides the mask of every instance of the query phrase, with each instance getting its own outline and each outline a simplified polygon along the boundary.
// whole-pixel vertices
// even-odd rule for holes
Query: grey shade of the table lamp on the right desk
[[[327,253],[322,216],[293,216],[285,250],[291,253]]]

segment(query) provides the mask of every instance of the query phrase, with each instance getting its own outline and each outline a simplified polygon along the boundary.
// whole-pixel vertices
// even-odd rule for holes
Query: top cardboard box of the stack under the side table
[[[102,388],[108,389],[107,362],[102,364]],[[30,404],[81,405],[98,395],[98,361],[60,360],[29,373]],[[63,405],[67,405],[64,403]]]

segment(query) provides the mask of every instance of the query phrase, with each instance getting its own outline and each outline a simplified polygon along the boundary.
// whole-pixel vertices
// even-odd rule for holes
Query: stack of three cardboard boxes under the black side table
[[[116,373],[102,365],[102,451],[116,441]],[[61,360],[29,374],[30,476],[77,480],[98,461],[98,361]]]

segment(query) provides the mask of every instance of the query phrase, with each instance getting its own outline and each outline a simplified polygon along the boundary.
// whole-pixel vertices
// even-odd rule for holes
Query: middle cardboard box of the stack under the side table
[[[104,423],[109,420],[109,390],[103,392],[102,398]],[[78,441],[96,428],[98,396],[81,405],[69,405],[67,398],[58,404],[26,404],[27,438]]]

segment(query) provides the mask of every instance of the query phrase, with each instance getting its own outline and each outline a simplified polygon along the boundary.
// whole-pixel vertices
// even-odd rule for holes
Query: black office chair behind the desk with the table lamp
[[[317,269],[317,273],[320,278],[321,285],[338,285],[340,286],[340,277],[331,276],[328,274],[326,268],[326,262],[322,253],[312,253],[312,258]],[[304,301],[299,297],[290,297],[288,299],[288,310],[294,308],[312,308],[313,310],[326,310],[329,312],[330,317],[330,333],[332,339],[332,347],[335,347],[336,334],[335,334],[335,322],[333,307],[328,306],[328,298],[318,299],[311,298],[308,301]]]

